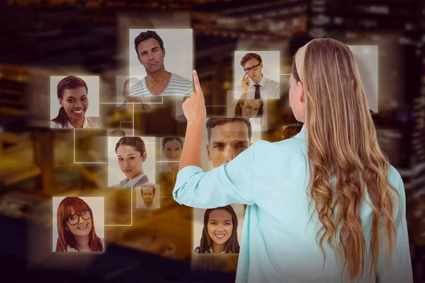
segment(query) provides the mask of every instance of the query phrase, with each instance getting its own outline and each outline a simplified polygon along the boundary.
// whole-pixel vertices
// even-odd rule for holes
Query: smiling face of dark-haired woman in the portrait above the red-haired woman
[[[64,96],[59,99],[70,120],[81,120],[86,115],[89,108],[89,98],[87,98],[86,88],[72,88],[64,91]]]

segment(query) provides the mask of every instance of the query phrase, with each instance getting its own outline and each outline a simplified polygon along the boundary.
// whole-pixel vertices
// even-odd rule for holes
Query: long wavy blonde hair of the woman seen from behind
[[[341,42],[315,39],[295,54],[293,76],[302,82],[305,96],[307,195],[312,216],[315,213],[322,224],[317,243],[324,260],[325,242],[342,258],[341,277],[344,272],[349,280],[363,276],[367,262],[372,277],[378,269],[380,237],[390,262],[396,238],[395,195],[399,208],[401,204],[387,180],[390,163],[380,151],[356,61]],[[373,210],[369,252],[364,236],[369,231],[363,231],[360,218],[362,200]]]

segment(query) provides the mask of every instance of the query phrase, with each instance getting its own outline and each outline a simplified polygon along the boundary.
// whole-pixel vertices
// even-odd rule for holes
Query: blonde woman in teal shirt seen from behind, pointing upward
[[[194,82],[173,196],[199,208],[248,204],[238,283],[412,282],[404,185],[380,151],[346,45],[315,39],[295,54],[289,100],[299,134],[257,141],[206,173],[196,72]]]

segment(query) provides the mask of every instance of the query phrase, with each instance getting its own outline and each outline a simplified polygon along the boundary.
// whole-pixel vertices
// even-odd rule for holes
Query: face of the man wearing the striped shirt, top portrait
[[[146,71],[154,72],[164,67],[165,50],[161,50],[159,42],[154,38],[149,38],[139,43],[137,54],[140,64]]]

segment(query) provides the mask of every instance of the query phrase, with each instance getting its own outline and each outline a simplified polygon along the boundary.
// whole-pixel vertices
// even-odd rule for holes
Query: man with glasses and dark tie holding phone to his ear
[[[242,99],[279,99],[279,83],[263,76],[263,60],[256,53],[248,53],[241,60],[245,74],[237,90]]]

